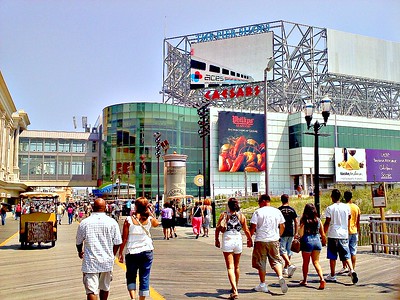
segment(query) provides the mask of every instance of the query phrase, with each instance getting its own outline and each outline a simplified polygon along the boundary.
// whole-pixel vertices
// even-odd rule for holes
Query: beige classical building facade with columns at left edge
[[[18,145],[29,124],[28,114],[16,109],[0,72],[0,202],[13,204],[27,189],[19,178]]]

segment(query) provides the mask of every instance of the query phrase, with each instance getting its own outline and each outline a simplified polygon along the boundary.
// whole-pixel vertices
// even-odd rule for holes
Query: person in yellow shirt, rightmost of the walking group
[[[353,264],[353,270],[356,269],[356,255],[357,255],[357,243],[358,243],[358,233],[360,232],[360,217],[361,210],[357,204],[353,203],[353,194],[350,191],[343,193],[343,198],[346,200],[350,207],[350,221],[349,221],[349,250],[351,256],[351,263]],[[338,274],[345,274],[349,272],[349,268],[346,264],[343,264],[343,268],[338,272]]]

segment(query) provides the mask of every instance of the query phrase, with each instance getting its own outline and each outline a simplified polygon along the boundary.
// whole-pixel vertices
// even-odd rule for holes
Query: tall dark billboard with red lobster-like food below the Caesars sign
[[[218,145],[220,172],[265,171],[264,115],[220,111]]]

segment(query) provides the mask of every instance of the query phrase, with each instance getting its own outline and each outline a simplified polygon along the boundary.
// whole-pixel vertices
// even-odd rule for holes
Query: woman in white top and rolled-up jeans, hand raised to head
[[[139,299],[150,295],[150,270],[153,263],[153,240],[150,228],[159,225],[149,201],[140,197],[135,201],[135,213],[127,217],[122,230],[119,262],[124,262],[126,246],[126,284],[131,299],[136,299],[136,277],[139,272]]]

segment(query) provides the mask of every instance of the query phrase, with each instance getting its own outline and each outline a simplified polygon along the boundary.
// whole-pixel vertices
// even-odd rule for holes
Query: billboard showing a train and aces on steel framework
[[[191,89],[264,81],[273,33],[194,43],[190,54]]]

